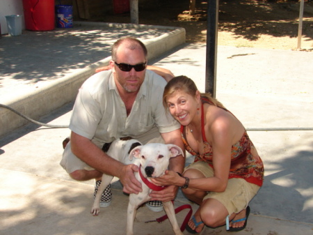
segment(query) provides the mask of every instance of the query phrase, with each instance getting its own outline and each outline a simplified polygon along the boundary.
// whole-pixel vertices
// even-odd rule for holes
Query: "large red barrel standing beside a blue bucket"
[[[54,30],[54,0],[23,0],[25,28],[32,31]]]

